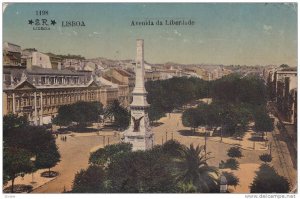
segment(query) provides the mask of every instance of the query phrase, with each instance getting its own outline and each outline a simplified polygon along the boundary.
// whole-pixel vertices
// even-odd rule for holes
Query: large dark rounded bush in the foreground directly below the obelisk
[[[126,153],[108,167],[111,189],[115,193],[176,192],[176,182],[168,167],[170,159],[160,150]]]

